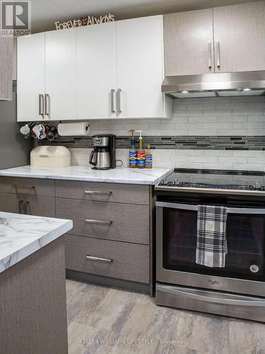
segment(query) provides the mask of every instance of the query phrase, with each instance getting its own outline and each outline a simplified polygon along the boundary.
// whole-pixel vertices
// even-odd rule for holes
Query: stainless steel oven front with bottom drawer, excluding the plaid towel
[[[265,321],[264,202],[187,194],[156,202],[157,304]],[[195,263],[201,203],[228,208],[225,268]]]

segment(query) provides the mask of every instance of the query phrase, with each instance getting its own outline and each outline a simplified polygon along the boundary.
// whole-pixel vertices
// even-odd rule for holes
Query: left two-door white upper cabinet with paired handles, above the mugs
[[[17,120],[76,118],[76,29],[18,38]]]

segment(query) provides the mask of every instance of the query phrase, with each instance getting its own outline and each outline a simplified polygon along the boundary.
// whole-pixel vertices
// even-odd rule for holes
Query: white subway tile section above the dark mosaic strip
[[[182,98],[174,101],[168,120],[95,120],[92,134],[111,132],[124,136],[128,130],[152,135],[265,135],[265,96]]]

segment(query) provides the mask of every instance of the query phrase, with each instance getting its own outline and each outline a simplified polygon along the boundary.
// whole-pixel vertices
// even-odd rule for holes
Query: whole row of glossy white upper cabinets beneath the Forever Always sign
[[[172,116],[163,77],[162,15],[18,38],[18,120]]]

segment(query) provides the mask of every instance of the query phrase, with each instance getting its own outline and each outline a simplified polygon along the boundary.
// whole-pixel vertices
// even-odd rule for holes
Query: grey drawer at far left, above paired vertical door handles
[[[54,181],[38,178],[0,178],[0,192],[54,197]]]

